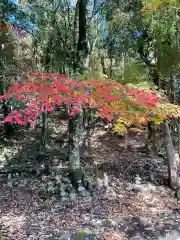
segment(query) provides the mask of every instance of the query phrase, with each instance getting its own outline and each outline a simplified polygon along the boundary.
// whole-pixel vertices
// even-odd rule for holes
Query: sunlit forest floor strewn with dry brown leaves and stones
[[[50,130],[51,155],[67,154],[62,141],[67,122],[53,118]],[[28,165],[36,152],[37,136],[19,131],[2,143],[1,169]],[[144,134],[131,134],[125,149],[123,138],[110,136],[103,126],[94,129],[81,147],[82,165],[95,180],[107,173],[109,188],[94,192],[87,201],[61,202],[53,197],[42,201],[38,177],[24,175],[20,180],[15,176],[12,186],[0,176],[0,240],[68,240],[82,230],[87,236],[79,239],[84,240],[180,239],[180,205],[166,184],[166,161],[153,158],[144,143]],[[136,174],[146,191],[132,191]]]

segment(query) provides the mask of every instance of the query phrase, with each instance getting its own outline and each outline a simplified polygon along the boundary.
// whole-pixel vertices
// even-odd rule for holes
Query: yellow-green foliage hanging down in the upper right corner
[[[143,22],[152,38],[149,50],[154,51],[161,74],[170,75],[179,66],[179,2],[156,0],[144,3]]]

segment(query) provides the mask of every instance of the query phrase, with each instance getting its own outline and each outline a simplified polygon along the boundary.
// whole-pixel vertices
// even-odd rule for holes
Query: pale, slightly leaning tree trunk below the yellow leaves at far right
[[[166,147],[167,160],[168,160],[169,186],[172,189],[176,189],[177,183],[178,183],[177,162],[176,162],[175,152],[172,144],[170,129],[167,122],[164,123],[164,139],[165,139],[165,147]]]

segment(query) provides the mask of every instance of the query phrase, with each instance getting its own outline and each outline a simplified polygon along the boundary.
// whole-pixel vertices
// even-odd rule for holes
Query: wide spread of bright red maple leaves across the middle
[[[95,108],[99,116],[111,120],[121,109],[112,107],[112,103],[125,101],[142,107],[156,107],[159,99],[153,92],[130,89],[112,81],[88,80],[79,82],[62,74],[41,74],[36,72],[32,78],[49,79],[36,83],[21,82],[13,84],[0,97],[2,99],[18,99],[26,104],[24,109],[14,110],[4,122],[33,125],[36,118],[44,111],[52,112],[57,104],[71,106],[73,117],[81,108]]]

